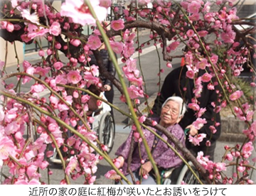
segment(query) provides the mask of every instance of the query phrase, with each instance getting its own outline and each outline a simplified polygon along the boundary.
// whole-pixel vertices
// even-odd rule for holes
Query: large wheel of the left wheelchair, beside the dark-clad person
[[[107,146],[107,153],[110,153],[114,145],[115,126],[114,119],[110,112],[105,112],[100,119],[99,141]]]

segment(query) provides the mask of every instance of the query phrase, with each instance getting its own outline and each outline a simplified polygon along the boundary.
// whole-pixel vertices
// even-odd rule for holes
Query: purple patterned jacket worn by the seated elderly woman
[[[154,119],[157,122],[159,122],[159,118],[158,119]],[[156,129],[151,128],[154,131],[156,131]],[[174,126],[169,126],[168,128],[166,128],[168,131],[171,132],[171,134],[173,134],[179,141],[181,141],[181,143],[183,143],[183,146],[185,146],[185,134],[183,129],[181,128],[181,126],[179,126],[178,124],[174,124]],[[144,136],[146,138],[146,141],[149,145],[149,148],[151,149],[154,143],[154,134],[152,134],[149,130],[147,129],[142,129],[142,131],[144,132]],[[133,131],[131,131],[131,133],[129,134],[129,137],[127,138],[127,141],[125,141],[118,149],[117,152],[115,153],[116,156],[123,156],[124,157],[124,165],[122,167],[122,170],[124,172],[124,175],[127,175],[127,159],[129,156],[129,149],[131,147],[131,143],[132,143],[132,134]],[[165,141],[167,141],[167,137],[163,134],[162,138],[164,138]],[[171,141],[168,140],[168,143],[171,144],[171,146],[174,146],[174,143],[172,143]],[[146,160],[146,158],[148,158],[147,154],[146,154],[146,148],[144,147],[144,144],[141,142],[138,143],[134,142],[134,152],[132,154],[132,163],[131,163],[131,170],[137,170],[140,165],[141,165],[141,158],[139,156],[139,146],[140,146],[140,152],[142,155],[142,159]],[[180,153],[180,152],[179,152]],[[159,168],[173,168],[173,167],[177,167],[179,165],[181,165],[182,160],[180,158],[178,158],[178,156],[175,155],[174,151],[171,150],[171,148],[169,148],[166,143],[164,143],[163,141],[159,140],[159,142],[156,144],[156,147],[154,148],[154,151],[152,153],[152,156],[155,160],[156,165]]]

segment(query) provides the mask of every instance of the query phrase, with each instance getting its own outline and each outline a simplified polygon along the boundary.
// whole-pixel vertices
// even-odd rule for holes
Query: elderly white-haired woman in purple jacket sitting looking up
[[[184,146],[185,134],[181,126],[178,125],[178,122],[182,119],[185,112],[186,104],[183,103],[183,99],[181,99],[181,97],[169,97],[166,99],[166,102],[164,102],[161,108],[160,118],[152,119],[161,126],[164,126],[171,134],[181,141]],[[152,129],[156,131],[156,129]],[[171,148],[164,143],[164,141],[157,139],[154,134],[147,129],[144,129],[143,132],[159,170],[174,167],[176,168],[182,164],[182,160],[176,156],[174,151],[172,151]],[[156,133],[161,135],[161,132],[159,131],[156,131]],[[132,182],[132,178],[129,173],[127,173],[127,160],[129,150],[131,148],[132,135],[133,131],[131,131],[131,134],[129,134],[127,141],[125,141],[115,153],[115,155],[117,155],[116,161],[120,163],[119,168],[122,168],[124,175],[126,175],[130,182]],[[162,135],[162,138],[170,143],[171,146],[174,146],[174,143],[169,141],[164,134]],[[134,143],[134,152],[132,153],[132,163],[130,165],[130,169],[134,174],[135,181],[140,180],[141,176],[144,176],[144,178],[142,178],[142,185],[156,184],[154,175],[152,175],[154,170],[152,169],[151,162],[148,159],[143,143]],[[122,183],[126,184],[124,180],[122,180]]]

